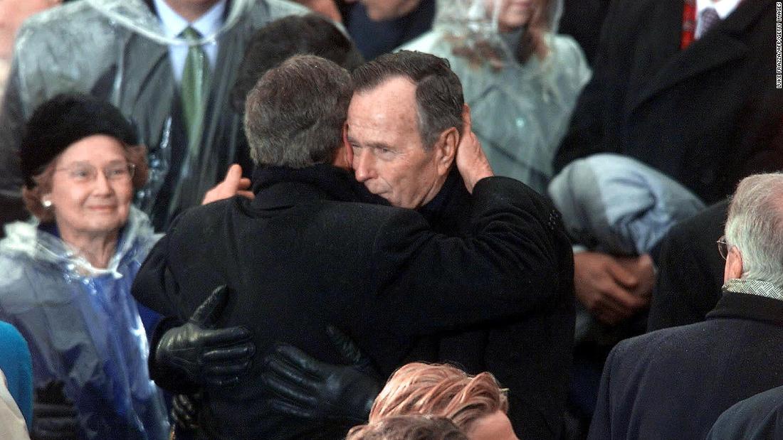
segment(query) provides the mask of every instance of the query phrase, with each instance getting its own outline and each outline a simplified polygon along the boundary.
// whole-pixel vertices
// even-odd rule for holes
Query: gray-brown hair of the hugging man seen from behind
[[[269,70],[245,102],[251,158],[292,168],[330,163],[352,93],[348,70],[318,56],[296,55]]]

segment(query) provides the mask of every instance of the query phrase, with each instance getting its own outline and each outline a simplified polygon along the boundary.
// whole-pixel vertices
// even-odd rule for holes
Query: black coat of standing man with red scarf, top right
[[[775,1],[740,3],[684,50],[682,16],[683,0],[612,2],[556,170],[615,152],[714,203],[742,177],[783,168]]]

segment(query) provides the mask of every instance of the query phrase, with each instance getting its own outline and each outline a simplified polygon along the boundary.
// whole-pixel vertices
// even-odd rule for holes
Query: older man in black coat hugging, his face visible
[[[471,130],[462,124],[467,107],[449,62],[399,51],[359,66],[352,80],[355,91],[348,107],[346,141],[356,180],[391,206],[417,209],[435,231],[470,237],[470,213],[480,201],[466,189],[471,177],[461,172],[464,162],[460,165],[458,144],[471,136]],[[558,219],[559,213],[553,213],[551,220],[559,223]],[[572,366],[572,252],[559,245],[552,251],[546,264],[557,273],[554,284],[533,287],[528,279],[518,278],[519,293],[530,301],[524,316],[438,334],[421,341],[410,357],[456,363],[471,374],[492,372],[509,388],[509,417],[523,439],[560,438]],[[535,258],[529,255],[521,261],[539,264]],[[287,365],[315,365],[303,356],[293,357]],[[340,394],[334,392],[337,377],[344,378],[345,388],[357,388],[348,368],[274,369],[281,378],[271,383],[280,395],[278,406],[301,417],[323,417],[324,408],[350,408],[349,402],[332,400]],[[301,392],[305,382],[316,395]]]

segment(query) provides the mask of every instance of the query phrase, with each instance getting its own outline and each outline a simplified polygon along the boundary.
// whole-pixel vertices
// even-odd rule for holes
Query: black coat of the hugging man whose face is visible
[[[467,213],[472,205],[473,198],[455,168],[420,212],[435,231],[464,236],[470,231]],[[573,254],[565,241],[554,264],[558,284],[550,301],[520,317],[442,334],[435,342],[434,359],[428,359],[454,363],[471,374],[494,374],[500,385],[509,388],[509,418],[522,440],[560,438],[565,412],[574,340]]]

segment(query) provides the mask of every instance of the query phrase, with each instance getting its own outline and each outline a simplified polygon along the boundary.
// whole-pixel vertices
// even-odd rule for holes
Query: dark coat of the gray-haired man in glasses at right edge
[[[705,438],[742,399],[783,385],[783,301],[727,292],[704,322],[615,345],[590,440]]]

